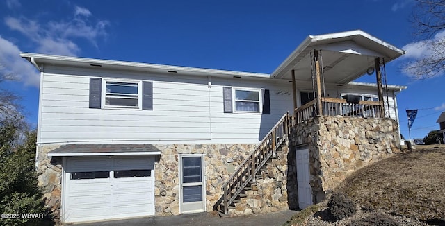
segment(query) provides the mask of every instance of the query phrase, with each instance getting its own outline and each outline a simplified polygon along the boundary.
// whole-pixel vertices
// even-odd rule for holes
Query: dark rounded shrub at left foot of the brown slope
[[[348,198],[346,193],[334,192],[332,193],[329,202],[327,202],[327,207],[335,220],[341,220],[353,216],[357,212],[357,207],[353,200]]]

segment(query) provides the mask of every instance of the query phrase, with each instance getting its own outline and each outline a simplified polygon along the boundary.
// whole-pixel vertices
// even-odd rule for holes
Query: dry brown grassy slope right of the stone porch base
[[[336,189],[347,193],[357,213],[332,220],[327,200],[307,207],[284,225],[444,225],[445,146],[416,146],[362,168]],[[329,195],[328,195],[329,196]],[[366,223],[373,218],[374,223]],[[362,220],[361,223],[353,223]]]

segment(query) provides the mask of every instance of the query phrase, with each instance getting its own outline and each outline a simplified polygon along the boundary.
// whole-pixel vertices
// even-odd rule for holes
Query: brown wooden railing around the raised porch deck
[[[382,101],[359,101],[359,103],[348,103],[345,99],[321,98],[321,114],[328,116],[348,116],[362,118],[382,118]],[[296,123],[307,121],[318,115],[316,99],[295,110]]]

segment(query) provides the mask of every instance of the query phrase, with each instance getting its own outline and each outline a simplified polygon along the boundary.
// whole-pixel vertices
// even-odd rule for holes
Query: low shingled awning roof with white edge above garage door
[[[161,155],[161,150],[151,144],[67,144],[48,153],[49,157],[94,155]]]

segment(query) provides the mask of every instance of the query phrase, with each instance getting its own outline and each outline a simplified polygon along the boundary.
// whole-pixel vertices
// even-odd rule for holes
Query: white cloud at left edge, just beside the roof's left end
[[[39,87],[40,74],[29,62],[20,57],[20,49],[12,42],[0,36],[0,72],[17,76],[25,85]]]

